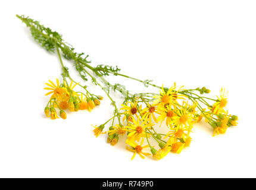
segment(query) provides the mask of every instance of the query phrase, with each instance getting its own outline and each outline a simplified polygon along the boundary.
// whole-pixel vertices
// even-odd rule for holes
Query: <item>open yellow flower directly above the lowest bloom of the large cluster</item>
[[[133,118],[133,124],[129,124],[126,126],[126,131],[129,132],[127,143],[133,140],[139,140],[141,137],[146,137],[145,128],[149,126],[153,126],[154,124],[149,124],[148,119],[144,119],[141,122],[141,119],[138,118],[137,121]]]

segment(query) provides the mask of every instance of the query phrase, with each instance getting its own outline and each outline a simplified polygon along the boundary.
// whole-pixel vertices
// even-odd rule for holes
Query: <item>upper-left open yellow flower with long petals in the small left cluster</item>
[[[45,90],[51,90],[48,93],[45,94],[45,96],[52,94],[51,98],[56,98],[56,99],[61,99],[61,100],[66,100],[69,97],[69,93],[66,88],[60,87],[60,82],[58,78],[56,79],[57,85],[52,83],[52,81],[49,80],[49,83],[45,83],[49,87],[44,88]]]

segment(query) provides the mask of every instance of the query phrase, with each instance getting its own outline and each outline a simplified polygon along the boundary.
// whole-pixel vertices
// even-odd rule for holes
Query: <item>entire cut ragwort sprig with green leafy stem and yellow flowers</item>
[[[88,55],[78,53],[70,43],[67,43],[57,31],[52,31],[39,21],[24,15],[17,15],[21,21],[30,28],[33,38],[48,52],[57,53],[62,68],[63,83],[46,83],[50,90],[46,95],[52,94],[45,107],[46,116],[52,119],[58,118],[56,108],[60,110],[61,118],[67,117],[64,110],[71,112],[80,110],[92,110],[99,105],[101,96],[89,93],[86,86],[74,82],[64,65],[62,56],[73,62],[73,66],[80,78],[100,87],[108,96],[114,107],[114,115],[102,125],[94,126],[94,134],[98,137],[102,133],[108,134],[107,142],[111,145],[118,143],[120,137],[126,138],[126,149],[133,152],[132,159],[139,154],[142,159],[152,155],[155,159],[163,159],[169,152],[180,153],[191,144],[191,131],[196,122],[204,119],[213,128],[213,136],[224,134],[230,126],[238,124],[238,116],[230,115],[226,110],[227,93],[223,88],[217,99],[206,97],[210,93],[206,87],[184,89],[177,88],[176,84],[170,88],[153,84],[152,80],[141,80],[120,73],[120,68],[109,65],[90,65]],[[62,55],[62,56],[61,56]],[[160,89],[159,93],[132,94],[126,90],[123,84],[111,84],[107,77],[123,77],[141,83],[145,87],[151,86]],[[71,81],[68,85],[67,79]],[[117,80],[116,80],[117,81]],[[74,83],[74,85],[73,85]],[[79,85],[85,93],[74,91]],[[110,91],[118,91],[124,99],[121,108],[118,109]],[[105,125],[112,121],[110,128],[104,131]],[[163,124],[165,126],[163,126]],[[160,128],[164,128],[166,132]],[[159,132],[157,132],[159,131]],[[156,145],[154,145],[156,144]],[[147,150],[148,149],[148,150]]]

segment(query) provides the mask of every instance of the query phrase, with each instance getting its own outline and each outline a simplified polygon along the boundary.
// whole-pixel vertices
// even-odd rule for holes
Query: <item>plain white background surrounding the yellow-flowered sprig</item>
[[[255,178],[255,9],[255,1],[245,0],[1,2],[0,177]],[[181,154],[132,161],[124,140],[113,147],[105,135],[92,134],[91,124],[102,124],[113,111],[99,88],[90,88],[104,96],[93,112],[55,121],[44,116],[44,83],[61,78],[60,64],[15,14],[63,34],[93,65],[118,65],[124,74],[167,87],[205,86],[211,97],[224,87],[239,125],[212,137],[202,122]],[[71,75],[80,81],[74,69]]]

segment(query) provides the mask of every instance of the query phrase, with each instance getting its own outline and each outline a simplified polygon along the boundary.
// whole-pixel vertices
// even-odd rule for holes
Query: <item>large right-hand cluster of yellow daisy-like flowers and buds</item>
[[[171,88],[162,87],[160,94],[152,96],[151,100],[142,94],[133,101],[127,101],[121,105],[120,110],[123,112],[116,113],[121,122],[113,125],[115,116],[111,118],[113,124],[107,131],[107,142],[115,145],[119,137],[126,137],[126,149],[133,152],[132,159],[139,154],[142,159],[151,155],[160,160],[169,152],[179,154],[184,148],[189,147],[193,125],[202,118],[213,126],[213,135],[224,134],[229,126],[237,124],[238,117],[229,115],[225,110],[227,99],[223,89],[220,91],[220,97],[217,96],[216,100],[210,99],[214,102],[213,105],[209,105],[203,97],[192,98],[192,91],[199,91],[200,94],[210,93],[205,87],[195,90],[180,87],[177,90],[174,83]],[[205,101],[208,110],[202,109],[195,100]],[[96,137],[102,133],[105,124],[93,130]],[[167,126],[166,134],[157,132],[157,128],[165,127],[162,124]],[[158,148],[152,143],[156,143]]]

